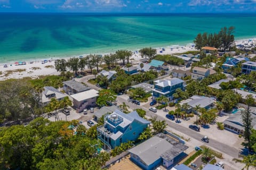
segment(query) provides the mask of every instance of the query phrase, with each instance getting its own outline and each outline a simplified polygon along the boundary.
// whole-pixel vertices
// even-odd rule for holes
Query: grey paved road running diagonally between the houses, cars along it
[[[143,107],[143,106],[138,106],[138,105],[135,105],[135,104],[132,104],[132,103],[128,102],[126,99],[123,99],[122,96],[118,96],[117,100],[121,103],[125,102],[128,106],[130,106],[131,109],[136,109],[136,108],[144,109],[146,111],[147,116],[155,116],[156,115],[155,113],[148,111],[148,109]],[[203,138],[203,135],[200,134],[199,132],[196,132],[196,131],[193,131],[189,128],[181,126],[177,123],[172,122],[171,120],[167,120],[166,118],[164,118],[162,116],[157,116],[157,120],[161,120],[161,121],[165,120],[166,123],[168,124],[168,126],[170,126],[170,128],[173,128],[177,131],[180,131],[180,132],[182,132],[182,133],[188,135],[189,137],[194,138],[198,141],[201,141],[201,139]],[[221,152],[223,152],[227,155],[230,155],[231,157],[238,158],[239,150],[235,149],[233,147],[230,147],[230,146],[226,145],[225,143],[221,143],[217,140],[210,139],[210,142],[205,143],[205,145],[210,146],[210,147],[215,148],[215,149],[218,149]]]

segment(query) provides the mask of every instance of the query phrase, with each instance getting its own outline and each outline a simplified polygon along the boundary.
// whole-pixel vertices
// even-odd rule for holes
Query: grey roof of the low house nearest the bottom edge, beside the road
[[[166,135],[158,134],[130,149],[129,152],[139,156],[147,165],[151,165],[159,158],[170,161],[187,148],[183,143],[167,138]]]

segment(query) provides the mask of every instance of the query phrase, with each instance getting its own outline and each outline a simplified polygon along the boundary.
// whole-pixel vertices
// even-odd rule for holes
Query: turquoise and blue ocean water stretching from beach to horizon
[[[0,63],[193,43],[235,26],[256,37],[256,14],[0,13]]]

